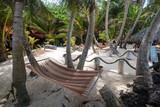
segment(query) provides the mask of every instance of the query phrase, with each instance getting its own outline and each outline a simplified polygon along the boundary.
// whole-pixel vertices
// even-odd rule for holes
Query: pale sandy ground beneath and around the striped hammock
[[[130,50],[132,48],[129,47]],[[118,49],[120,54],[124,53],[126,50]],[[90,50],[88,53],[87,60],[90,60],[96,56],[103,58],[107,62],[112,62],[118,59],[117,56],[109,57],[109,51],[97,50],[98,54],[93,54]],[[41,55],[36,55],[37,60],[50,58],[57,63],[64,64],[63,54],[65,54],[64,47],[58,47],[56,50],[46,49]],[[74,51],[72,53],[72,58],[81,54],[79,51]],[[136,66],[136,57],[131,55],[132,60],[129,62]],[[25,63],[28,63],[28,59],[25,56]],[[123,56],[126,58],[126,56]],[[76,66],[78,61],[74,63]],[[124,64],[124,75],[118,74],[118,63],[115,64],[104,64],[100,63],[103,66],[103,72],[101,78],[98,80],[96,86],[92,89],[89,94],[90,98],[94,98],[99,95],[98,90],[101,89],[104,84],[109,85],[114,92],[118,95],[120,90],[126,90],[126,84],[132,82],[135,76],[135,70],[130,68],[126,63]],[[85,68],[90,70],[94,68],[94,62],[86,62]],[[27,69],[27,74],[30,72]],[[12,60],[8,60],[4,63],[0,63],[0,107],[3,107],[1,102],[4,102],[3,97],[10,90],[10,85],[12,81]],[[63,88],[57,83],[51,83],[43,77],[31,78],[27,75],[27,89],[31,98],[31,104],[29,107],[77,107],[77,105],[86,99],[86,97],[79,96],[78,94]],[[12,107],[13,103],[10,101],[7,102],[5,107]]]

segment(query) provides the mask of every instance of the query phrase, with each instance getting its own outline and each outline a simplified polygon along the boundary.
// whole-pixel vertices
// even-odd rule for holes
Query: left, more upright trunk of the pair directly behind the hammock
[[[66,64],[68,68],[74,68],[73,62],[72,62],[72,57],[71,57],[71,36],[72,36],[72,31],[73,31],[73,23],[74,23],[74,17],[75,14],[74,12],[71,12],[71,16],[69,19],[69,26],[68,26],[68,32],[67,32],[67,47],[66,47]]]

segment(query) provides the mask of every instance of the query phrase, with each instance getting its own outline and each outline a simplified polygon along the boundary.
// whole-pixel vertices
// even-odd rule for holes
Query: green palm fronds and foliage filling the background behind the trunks
[[[67,1],[67,0],[66,0]],[[35,38],[35,42],[39,43],[40,39],[42,41],[49,41],[51,44],[61,45],[57,42],[59,39],[64,39],[65,33],[67,33],[68,26],[68,10],[74,10],[76,12],[75,20],[74,20],[74,30],[73,35],[75,37],[81,38],[81,42],[85,41],[85,37],[87,35],[87,26],[88,26],[88,5],[87,1],[84,2],[71,2],[68,3],[66,1],[57,1],[57,3],[49,3],[49,2],[41,2],[40,0],[31,0],[27,2],[24,10],[24,24],[26,27],[26,31],[30,32],[28,36],[32,36]],[[1,0],[1,2],[3,2]],[[8,13],[11,10],[9,7],[1,6],[1,11]],[[67,5],[66,5],[67,4]],[[76,7],[76,4],[81,6]],[[109,6],[109,17],[108,17],[108,37],[105,37],[105,7],[107,2],[105,0],[96,1],[96,23],[95,23],[95,36],[98,40],[106,40],[106,39],[116,39],[119,34],[119,29],[123,22],[123,14],[124,14],[124,2],[123,0],[112,0]],[[148,7],[144,8],[143,13],[140,16],[140,19],[137,22],[132,34],[140,31],[142,28],[147,27],[155,14],[156,10],[159,7],[159,2],[151,2]],[[140,2],[131,2],[128,10],[127,23],[124,27],[123,38],[125,38],[127,32],[133,25],[138,11],[141,7]],[[153,8],[154,7],[154,8]],[[77,9],[80,10],[77,10]],[[8,28],[11,26],[11,16],[7,16],[7,14],[2,14],[1,12],[1,21],[8,22],[8,26],[5,23],[1,23],[1,26],[4,25],[4,28]],[[11,15],[11,13],[10,13]],[[5,21],[6,20],[6,21]],[[3,28],[2,28],[3,29]],[[3,33],[2,33],[3,32]],[[1,31],[2,37],[7,35]],[[53,37],[51,37],[51,35]],[[63,35],[63,36],[62,36]],[[33,43],[33,42],[32,42]],[[33,45],[32,44],[32,47]],[[43,43],[42,43],[43,44]]]

